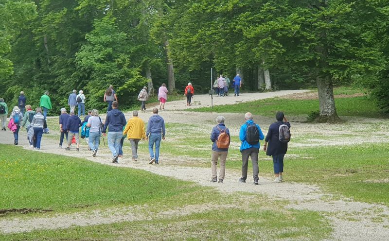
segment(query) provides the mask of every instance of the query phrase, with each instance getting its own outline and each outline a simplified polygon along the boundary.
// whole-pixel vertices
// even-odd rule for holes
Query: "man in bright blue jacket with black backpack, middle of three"
[[[240,152],[242,153],[242,177],[239,178],[240,182],[245,183],[247,179],[248,169],[248,157],[251,157],[252,162],[252,175],[254,178],[254,184],[258,185],[258,154],[259,154],[259,140],[264,139],[261,127],[254,123],[252,120],[252,114],[247,112],[245,114],[246,123],[240,127],[239,138],[242,141],[240,146]]]

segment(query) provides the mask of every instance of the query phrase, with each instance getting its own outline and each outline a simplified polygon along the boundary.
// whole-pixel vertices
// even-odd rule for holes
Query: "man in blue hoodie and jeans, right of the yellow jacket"
[[[150,161],[149,164],[159,164],[159,144],[161,143],[161,133],[162,140],[165,139],[165,121],[163,118],[158,115],[158,108],[153,108],[153,115],[149,118],[147,122],[147,131],[146,131],[146,140],[149,140],[149,153]],[[149,137],[150,134],[150,137]],[[155,143],[155,155],[153,151],[153,146]]]

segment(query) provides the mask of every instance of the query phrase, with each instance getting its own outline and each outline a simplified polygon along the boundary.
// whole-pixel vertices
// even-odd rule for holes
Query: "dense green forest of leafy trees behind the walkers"
[[[386,0],[0,0],[0,97],[47,90],[54,115],[82,89],[103,110],[112,84],[126,108],[144,85],[208,93],[213,67],[247,91],[317,88],[318,121],[338,120],[333,86],[388,113],[388,19]]]

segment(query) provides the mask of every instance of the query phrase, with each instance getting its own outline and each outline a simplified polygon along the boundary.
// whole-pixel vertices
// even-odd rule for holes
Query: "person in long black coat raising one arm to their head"
[[[288,143],[280,141],[280,126],[287,125],[290,128],[290,123],[281,111],[277,112],[276,120],[276,122],[269,126],[269,130],[267,131],[264,151],[266,155],[271,155],[273,158],[273,182],[279,183],[283,181],[283,157],[288,150]],[[267,147],[267,144],[269,144],[269,147]]]

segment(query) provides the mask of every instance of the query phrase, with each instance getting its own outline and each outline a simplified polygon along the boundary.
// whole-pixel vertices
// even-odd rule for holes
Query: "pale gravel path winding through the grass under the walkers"
[[[284,94],[290,94],[291,92],[271,92],[271,93],[251,93],[251,94],[242,94],[238,101],[249,101],[254,99],[259,99],[265,95],[268,97],[281,96]],[[205,101],[208,96],[195,96],[195,101],[199,100]],[[198,99],[197,99],[198,98]],[[209,97],[208,97],[209,98]],[[223,104],[224,101],[221,100],[230,100],[233,99],[233,96],[229,97],[217,97],[220,103]],[[217,99],[215,98],[215,99]],[[236,97],[238,98],[238,97]],[[183,104],[184,103],[184,104]],[[231,103],[231,102],[229,102]],[[190,106],[194,108],[194,106]],[[200,106],[198,104],[197,106]],[[203,104],[201,104],[203,106]],[[181,110],[187,108],[185,102],[175,101],[166,103],[166,108],[170,110],[162,111],[161,115],[164,117],[166,122],[176,122],[176,123],[200,123],[197,121],[202,121],[206,123],[206,127],[213,126],[214,118],[216,113],[202,113],[201,115],[194,115],[190,112],[182,111],[172,111]],[[140,117],[144,120],[147,120],[150,116],[150,109],[140,113]],[[126,115],[129,115],[127,113]],[[225,114],[226,118],[240,120],[242,115],[237,114]],[[179,117],[179,118],[178,118]],[[195,119],[194,119],[195,118]],[[208,121],[209,120],[209,121]],[[213,121],[213,122],[211,122]],[[242,122],[242,121],[241,121]],[[261,123],[271,123],[272,119],[262,118]],[[323,124],[323,127],[327,125]],[[301,126],[301,129],[306,129],[306,124]],[[294,129],[295,131],[295,129]],[[23,131],[21,133],[21,138],[19,138],[19,144],[25,149],[31,149],[28,147],[28,143],[25,140]],[[237,133],[231,133],[232,135],[237,135]],[[12,144],[13,137],[11,132],[7,131],[1,133],[0,143]],[[162,147],[163,148],[163,147]],[[43,138],[41,152],[45,153],[58,153],[57,144],[51,142],[48,139]],[[63,149],[62,149],[63,150]],[[85,157],[85,153],[75,152],[74,150],[70,152],[65,152],[61,150],[61,155]],[[163,151],[161,158],[163,157]],[[110,153],[107,148],[102,148],[99,150],[99,154],[96,157],[91,157],[88,155],[86,157],[88,160],[103,163],[106,165],[113,165],[108,160],[110,159]],[[346,199],[333,199],[332,195],[329,193],[322,192],[317,186],[305,185],[300,183],[290,183],[284,182],[280,184],[273,184],[271,180],[260,177],[260,185],[253,185],[251,179],[248,178],[246,184],[239,183],[237,180],[240,177],[240,173],[227,170],[226,179],[223,184],[211,183],[210,182],[210,168],[194,168],[194,167],[181,167],[175,166],[174,163],[176,160],[169,157],[163,157],[163,163],[159,166],[147,164],[148,157],[143,155],[140,157],[138,162],[132,162],[130,158],[122,158],[119,164],[115,166],[118,167],[127,167],[127,168],[136,168],[141,170],[146,170],[153,172],[159,175],[170,176],[181,180],[194,181],[195,183],[202,186],[214,187],[221,192],[251,192],[257,194],[265,194],[272,196],[274,198],[282,198],[291,201],[291,204],[288,205],[288,208],[296,208],[301,210],[314,210],[320,211],[325,217],[330,219],[333,224],[334,233],[331,240],[342,240],[342,241],[369,241],[369,240],[387,240],[389,237],[389,209],[386,206],[378,204],[367,204],[361,202],[354,202]],[[248,176],[250,173],[248,173]],[[261,173],[260,173],[261,175]],[[285,176],[287,178],[287,176]],[[204,209],[209,209],[210,207],[203,207]],[[212,207],[211,207],[212,208]],[[57,215],[55,217],[39,217],[39,218],[1,218],[0,219],[0,232],[13,233],[13,232],[22,232],[22,231],[31,231],[34,229],[56,229],[56,228],[66,228],[71,225],[93,225],[93,224],[109,224],[116,223],[121,221],[131,221],[131,220],[147,220],[150,217],[140,215],[137,208],[128,207],[124,209],[109,209],[109,210],[95,210],[92,213],[74,213],[66,215]],[[202,207],[193,207],[195,211],[203,210]],[[172,213],[181,213],[182,209],[173,210]],[[109,213],[109,215],[107,215]],[[182,213],[181,213],[182,214]],[[377,220],[380,220],[377,222]]]

